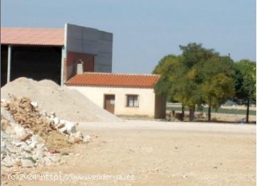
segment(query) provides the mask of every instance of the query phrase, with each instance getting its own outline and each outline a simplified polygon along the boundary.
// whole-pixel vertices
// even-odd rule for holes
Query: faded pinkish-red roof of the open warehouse
[[[64,45],[63,28],[1,28],[1,44]]]

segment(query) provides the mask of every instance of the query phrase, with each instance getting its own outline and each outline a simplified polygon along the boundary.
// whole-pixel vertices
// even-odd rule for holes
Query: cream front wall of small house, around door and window
[[[67,87],[70,89],[77,89],[101,108],[104,108],[104,94],[115,94],[116,115],[147,115],[154,117],[154,89],[93,86]],[[139,95],[139,107],[126,107],[126,94]]]

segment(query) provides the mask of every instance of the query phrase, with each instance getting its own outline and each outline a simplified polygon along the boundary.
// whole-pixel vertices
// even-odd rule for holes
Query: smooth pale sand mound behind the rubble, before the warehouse
[[[38,102],[39,109],[48,113],[54,111],[58,117],[69,121],[121,121],[77,90],[60,87],[51,80],[37,82],[20,77],[1,88],[1,99],[9,99],[9,94],[28,97]]]

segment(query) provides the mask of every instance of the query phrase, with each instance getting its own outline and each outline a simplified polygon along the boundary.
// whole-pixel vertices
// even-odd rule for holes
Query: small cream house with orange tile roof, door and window
[[[115,115],[165,118],[166,98],[154,93],[159,75],[85,72],[65,83]]]

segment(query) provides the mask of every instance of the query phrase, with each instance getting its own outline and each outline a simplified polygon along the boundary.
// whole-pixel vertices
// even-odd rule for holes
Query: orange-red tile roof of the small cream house
[[[111,73],[86,72],[70,78],[66,85],[89,85],[103,87],[143,87],[152,88],[159,80],[159,75],[126,75]]]

